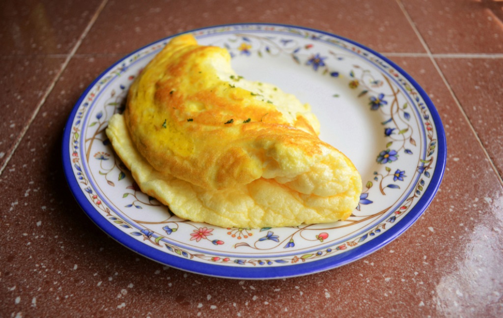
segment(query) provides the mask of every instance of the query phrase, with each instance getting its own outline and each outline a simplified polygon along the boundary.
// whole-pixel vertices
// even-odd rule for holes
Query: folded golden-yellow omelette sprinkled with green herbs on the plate
[[[358,205],[358,171],[319,129],[308,104],[184,34],[141,71],[106,134],[140,189],[180,218],[262,228],[344,220]]]

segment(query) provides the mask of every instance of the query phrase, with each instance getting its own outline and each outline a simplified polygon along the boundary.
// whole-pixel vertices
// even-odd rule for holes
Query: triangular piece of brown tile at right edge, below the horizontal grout
[[[439,59],[438,63],[503,176],[503,59]]]

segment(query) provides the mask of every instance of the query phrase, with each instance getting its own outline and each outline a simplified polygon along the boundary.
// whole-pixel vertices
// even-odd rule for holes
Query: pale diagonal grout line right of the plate
[[[430,50],[430,47],[426,43],[425,39],[423,38],[423,36],[421,35],[421,33],[419,32],[419,30],[417,29],[417,27],[415,26],[414,21],[412,20],[412,18],[408,14],[408,12],[405,10],[405,7],[403,6],[401,0],[396,0],[396,3],[398,4],[398,7],[400,7],[403,15],[405,16],[405,18],[409,22],[409,24],[412,27],[412,30],[416,34],[417,38],[420,40],[421,44],[425,48],[425,50],[427,52],[427,55],[430,57],[430,60],[432,61],[433,65],[435,66],[435,69],[437,69],[437,72],[439,73],[440,77],[442,78],[442,81],[444,82],[445,86],[449,90],[449,93],[451,93],[451,97],[454,99],[456,105],[458,106],[459,110],[461,111],[461,114],[463,114],[463,117],[465,118],[466,122],[468,123],[468,126],[470,127],[470,129],[472,130],[473,134],[475,135],[475,138],[477,139],[478,143],[480,144],[480,146],[482,146],[482,150],[484,151],[485,156],[487,157],[487,159],[489,161],[489,164],[492,167],[492,170],[496,174],[500,185],[503,186],[503,177],[499,174],[499,172],[498,172],[498,170],[496,168],[496,165],[494,165],[494,162],[492,161],[491,157],[489,156],[489,153],[487,152],[487,149],[485,148],[484,144],[482,143],[482,140],[480,140],[480,137],[479,137],[477,131],[475,130],[475,127],[473,127],[470,119],[468,118],[468,115],[466,114],[465,110],[461,106],[461,103],[459,102],[459,99],[456,97],[456,94],[452,90],[449,82],[447,81],[447,78],[445,77],[444,73],[440,69],[440,66],[438,65],[437,61],[435,60],[435,56],[432,54],[432,51]],[[447,55],[450,55],[450,54],[447,54]],[[467,55],[470,55],[470,54],[467,54]]]

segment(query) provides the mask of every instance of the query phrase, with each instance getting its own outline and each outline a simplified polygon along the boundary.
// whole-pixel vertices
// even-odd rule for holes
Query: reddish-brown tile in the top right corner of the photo
[[[432,53],[503,53],[503,3],[402,0]]]

